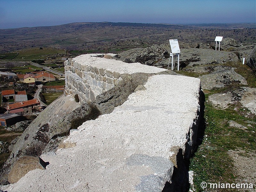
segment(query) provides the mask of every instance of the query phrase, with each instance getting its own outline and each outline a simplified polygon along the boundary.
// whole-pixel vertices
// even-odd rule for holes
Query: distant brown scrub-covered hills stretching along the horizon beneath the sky
[[[255,37],[255,23],[173,25],[84,22],[49,27],[0,29],[0,52],[42,46],[81,50],[127,40],[142,40],[147,44],[160,44],[170,38],[208,42],[216,35],[235,38],[239,42],[251,41]]]

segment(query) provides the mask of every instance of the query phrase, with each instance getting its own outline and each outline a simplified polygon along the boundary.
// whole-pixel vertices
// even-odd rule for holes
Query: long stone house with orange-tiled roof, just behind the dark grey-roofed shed
[[[23,115],[32,114],[40,111],[40,101],[32,99],[28,101],[22,101],[19,103],[13,103],[7,106],[7,111],[10,113],[22,113]]]

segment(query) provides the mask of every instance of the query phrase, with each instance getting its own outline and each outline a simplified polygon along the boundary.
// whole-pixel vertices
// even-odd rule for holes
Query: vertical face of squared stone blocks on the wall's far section
[[[92,63],[93,59],[92,57]],[[68,94],[78,94],[81,103],[95,100],[97,95],[108,91],[122,80],[118,72],[89,64],[81,65],[72,59],[65,61],[65,91]]]

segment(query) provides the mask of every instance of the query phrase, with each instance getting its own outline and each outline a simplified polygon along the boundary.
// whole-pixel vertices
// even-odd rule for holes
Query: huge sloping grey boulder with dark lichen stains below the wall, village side
[[[11,147],[12,153],[4,164],[4,173],[0,178],[0,182],[5,183],[6,176],[10,172],[13,163],[20,157],[40,155],[52,138],[67,134],[72,118],[81,116],[81,114],[85,115],[88,109],[89,106],[82,107],[71,95],[62,95],[52,102],[29,124],[28,128]],[[35,149],[35,147],[36,150],[30,150]],[[34,154],[28,154],[28,152],[34,152]]]

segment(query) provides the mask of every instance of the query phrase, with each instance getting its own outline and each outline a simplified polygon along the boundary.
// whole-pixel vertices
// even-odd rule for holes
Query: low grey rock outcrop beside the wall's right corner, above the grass
[[[235,82],[247,84],[246,79],[237,74],[233,68],[215,66],[209,72],[211,73],[198,77],[201,79],[203,89],[211,90],[214,87],[224,87]]]

